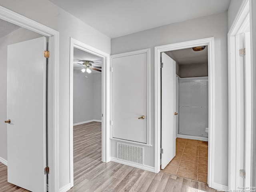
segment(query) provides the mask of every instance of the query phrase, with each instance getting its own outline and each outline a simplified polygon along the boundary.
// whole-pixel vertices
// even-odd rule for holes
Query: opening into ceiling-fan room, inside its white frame
[[[73,123],[74,185],[87,164],[101,157],[102,57],[74,48]],[[89,167],[90,168],[90,167]]]

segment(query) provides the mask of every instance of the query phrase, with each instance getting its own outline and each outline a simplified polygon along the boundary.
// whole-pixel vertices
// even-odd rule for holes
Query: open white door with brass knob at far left
[[[8,46],[8,182],[46,192],[46,38]]]

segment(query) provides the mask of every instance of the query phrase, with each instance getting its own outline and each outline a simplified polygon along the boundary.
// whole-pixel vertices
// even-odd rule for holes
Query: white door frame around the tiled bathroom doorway
[[[196,46],[208,46],[208,185],[214,186],[214,143],[215,143],[215,69],[214,69],[214,38],[204,38],[175,44],[155,47],[155,172],[160,171],[160,143],[161,143],[161,75],[160,53]],[[176,90],[175,90],[176,91]]]

